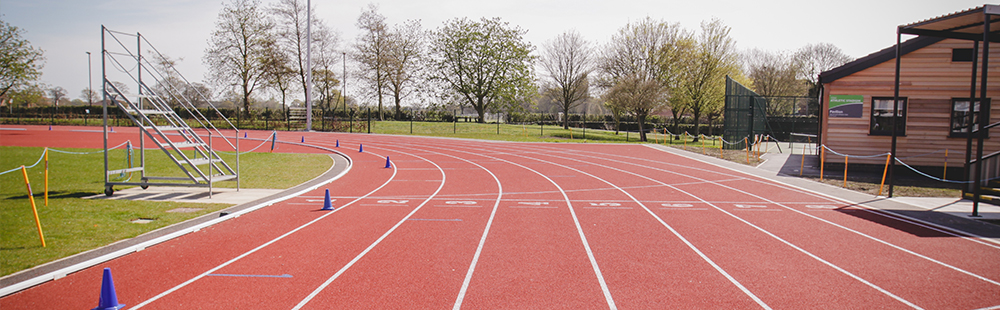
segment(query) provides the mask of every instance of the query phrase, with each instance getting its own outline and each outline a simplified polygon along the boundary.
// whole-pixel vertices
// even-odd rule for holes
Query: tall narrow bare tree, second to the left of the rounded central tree
[[[361,12],[357,26],[361,34],[354,44],[356,53],[352,56],[360,65],[362,81],[371,86],[370,95],[378,101],[378,119],[383,120],[382,100],[389,79],[389,42],[392,40],[389,27],[385,16],[378,13],[378,6],[374,4],[369,4],[368,9]]]

